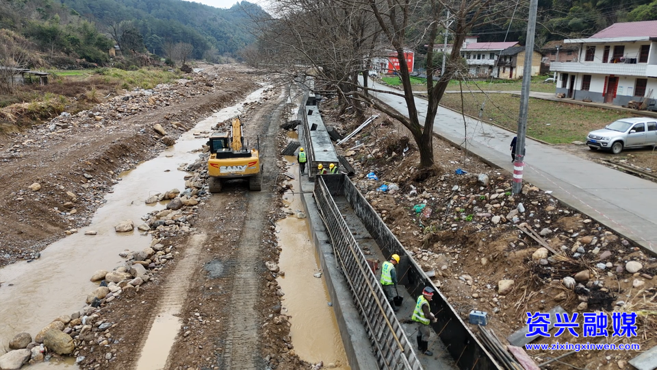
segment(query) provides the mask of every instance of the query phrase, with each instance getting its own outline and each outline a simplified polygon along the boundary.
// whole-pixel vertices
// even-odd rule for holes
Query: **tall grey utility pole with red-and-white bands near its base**
[[[527,112],[529,109],[529,87],[532,82],[532,57],[534,56],[534,33],[536,31],[536,12],[538,5],[539,0],[531,0],[529,3],[527,45],[525,45],[525,64],[524,70],[522,71],[518,134],[515,145],[515,162],[513,162],[513,194],[519,194],[522,190],[522,168],[524,167],[525,135],[527,132]]]

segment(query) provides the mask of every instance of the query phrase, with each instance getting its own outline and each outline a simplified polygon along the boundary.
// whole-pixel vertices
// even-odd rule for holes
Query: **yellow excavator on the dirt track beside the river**
[[[260,143],[258,140],[257,148],[248,149],[244,138],[244,125],[239,117],[233,119],[230,134],[214,132],[210,135],[207,145],[210,147],[210,157],[207,160],[210,193],[220,193],[223,182],[233,179],[248,180],[249,190],[260,190]]]

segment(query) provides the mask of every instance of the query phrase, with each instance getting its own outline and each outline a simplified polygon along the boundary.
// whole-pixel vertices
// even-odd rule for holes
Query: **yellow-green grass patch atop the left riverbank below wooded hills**
[[[180,78],[180,72],[169,72],[165,69],[138,69],[137,71],[125,71],[116,68],[102,68],[96,71],[103,76],[105,82],[117,82],[121,88],[131,90],[133,88],[154,88],[158,84],[166,84],[174,79]]]

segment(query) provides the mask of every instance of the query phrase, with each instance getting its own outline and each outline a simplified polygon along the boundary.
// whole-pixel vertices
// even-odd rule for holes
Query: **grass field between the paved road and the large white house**
[[[520,97],[509,94],[464,94],[463,111],[478,116],[485,102],[482,121],[496,123],[515,132],[518,127]],[[441,105],[461,111],[461,95],[445,94]],[[591,130],[598,130],[617,119],[637,116],[629,112],[578,106],[541,99],[529,99],[527,134],[552,144],[584,141]]]

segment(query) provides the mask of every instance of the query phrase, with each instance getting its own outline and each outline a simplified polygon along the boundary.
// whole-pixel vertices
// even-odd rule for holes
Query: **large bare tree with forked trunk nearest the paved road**
[[[274,25],[266,27],[271,45],[285,51],[282,56],[300,64],[322,66],[321,78],[327,88],[348,103],[361,101],[393,117],[409,129],[420,151],[420,167],[432,169],[433,127],[441,100],[450,79],[463,71],[461,47],[465,36],[477,25],[503,19],[513,10],[512,0],[276,0],[280,14]],[[446,70],[436,78],[438,51],[434,50],[438,32],[447,27],[450,14],[452,52]],[[379,37],[381,36],[381,37]],[[404,52],[427,45],[426,88],[428,108],[420,123],[411,86],[410,68]],[[367,87],[357,77],[368,69],[372,58],[396,54],[402,93]],[[389,93],[402,97],[408,117],[387,106],[369,93]],[[358,106],[358,105],[355,105]]]

